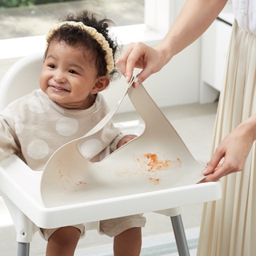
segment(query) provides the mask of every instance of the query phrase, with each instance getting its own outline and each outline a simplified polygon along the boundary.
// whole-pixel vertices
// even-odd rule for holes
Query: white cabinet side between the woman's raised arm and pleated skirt
[[[231,25],[234,22],[232,2],[226,4],[218,17],[222,20],[216,19],[202,35],[200,103],[214,102],[222,90]]]

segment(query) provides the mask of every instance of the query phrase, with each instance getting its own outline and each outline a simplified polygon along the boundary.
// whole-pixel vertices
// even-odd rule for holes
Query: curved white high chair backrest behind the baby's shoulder
[[[43,53],[30,54],[15,62],[0,82],[0,110],[10,102],[39,88]]]

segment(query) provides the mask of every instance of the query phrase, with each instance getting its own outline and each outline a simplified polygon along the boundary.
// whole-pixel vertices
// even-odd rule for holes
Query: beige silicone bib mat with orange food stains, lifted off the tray
[[[193,185],[204,178],[204,167],[195,161],[145,87],[134,89],[130,85],[93,130],[62,146],[47,162],[41,181],[46,207]],[[101,162],[90,162],[80,154],[79,145],[100,132],[125,97],[145,122],[144,132]]]

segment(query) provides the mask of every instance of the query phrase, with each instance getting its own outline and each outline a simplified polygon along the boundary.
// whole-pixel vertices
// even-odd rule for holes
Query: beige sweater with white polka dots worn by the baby
[[[43,170],[55,150],[82,137],[108,112],[101,94],[89,109],[69,110],[51,101],[42,90],[35,90],[0,113],[0,159],[17,154],[32,170]],[[78,150],[91,161],[100,161],[116,149],[121,137],[109,122],[79,143]]]

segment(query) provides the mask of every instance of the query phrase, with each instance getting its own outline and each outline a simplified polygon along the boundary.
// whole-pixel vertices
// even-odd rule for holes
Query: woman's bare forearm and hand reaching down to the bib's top
[[[221,12],[226,0],[187,0],[166,37],[152,48],[142,42],[131,43],[118,58],[116,65],[126,76],[132,77],[134,67],[142,69],[136,85],[150,74],[162,69],[175,54],[199,38]]]

